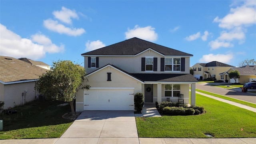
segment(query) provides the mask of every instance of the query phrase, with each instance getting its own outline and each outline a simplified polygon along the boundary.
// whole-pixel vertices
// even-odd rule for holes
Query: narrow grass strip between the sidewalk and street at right
[[[216,97],[218,97],[218,98],[223,98],[223,99],[225,99],[225,100],[230,100],[230,101],[232,101],[232,102],[237,102],[237,103],[239,103],[239,104],[244,104],[244,105],[246,105],[246,106],[250,106],[250,107],[253,107],[253,108],[256,108],[256,104],[253,104],[253,103],[250,103],[250,102],[245,102],[245,101],[238,100],[238,99],[235,99],[235,98],[230,98],[230,97],[228,97],[228,96],[222,96],[222,95],[220,95],[220,94],[214,94],[214,93],[212,93],[212,92],[206,92],[206,91],[204,91],[204,90],[196,89],[196,91],[197,91],[197,92],[202,92],[202,93],[204,93],[204,94],[209,94],[209,95],[211,95],[211,96],[216,96]]]

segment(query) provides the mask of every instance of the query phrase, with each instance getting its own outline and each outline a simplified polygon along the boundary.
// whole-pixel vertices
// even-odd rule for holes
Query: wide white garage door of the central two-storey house
[[[84,110],[134,110],[134,90],[84,90]]]

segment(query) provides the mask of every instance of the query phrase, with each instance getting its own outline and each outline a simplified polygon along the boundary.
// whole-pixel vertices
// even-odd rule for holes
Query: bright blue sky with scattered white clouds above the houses
[[[190,66],[256,59],[256,1],[0,0],[0,55],[51,65],[138,37],[193,54]]]

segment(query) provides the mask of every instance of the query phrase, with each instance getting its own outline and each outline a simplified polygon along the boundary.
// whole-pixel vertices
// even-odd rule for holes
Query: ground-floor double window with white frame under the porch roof
[[[180,84],[165,84],[164,85],[164,96],[177,97],[180,94]]]

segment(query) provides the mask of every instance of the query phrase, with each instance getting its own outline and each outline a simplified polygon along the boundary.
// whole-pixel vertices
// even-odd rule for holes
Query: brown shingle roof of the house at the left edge
[[[0,81],[35,80],[48,70],[8,56],[0,56]]]

